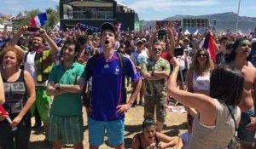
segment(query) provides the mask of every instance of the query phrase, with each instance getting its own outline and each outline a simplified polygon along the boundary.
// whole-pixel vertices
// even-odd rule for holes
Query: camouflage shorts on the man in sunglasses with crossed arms
[[[144,96],[144,117],[149,113],[154,116],[154,109],[156,110],[156,121],[166,121],[166,98],[159,96]]]

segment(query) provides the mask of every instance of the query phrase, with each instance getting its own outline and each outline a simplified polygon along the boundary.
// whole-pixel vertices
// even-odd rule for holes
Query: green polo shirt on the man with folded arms
[[[84,78],[84,66],[74,62],[65,69],[60,65],[54,66],[49,73],[49,83],[75,84],[79,77]],[[55,95],[51,114],[56,116],[79,116],[82,114],[81,93],[66,93]]]

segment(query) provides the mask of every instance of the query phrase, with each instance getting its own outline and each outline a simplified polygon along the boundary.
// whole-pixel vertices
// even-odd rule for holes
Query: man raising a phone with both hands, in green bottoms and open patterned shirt
[[[22,26],[9,44],[15,45],[20,39],[20,36],[27,32],[27,29],[28,26]],[[49,47],[45,46],[45,42],[49,44]],[[32,37],[29,51],[25,53],[24,69],[32,75],[36,83],[36,101],[31,108],[31,112],[34,114],[35,109],[38,109],[39,116],[44,123],[46,140],[50,105],[50,97],[46,95],[46,84],[57,52],[58,47],[55,42],[44,29],[38,28],[37,34]],[[36,126],[37,123],[39,124],[40,122],[36,122]]]

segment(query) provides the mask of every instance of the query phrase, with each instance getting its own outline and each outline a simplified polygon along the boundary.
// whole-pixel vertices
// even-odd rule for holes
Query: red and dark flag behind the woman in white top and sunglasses
[[[207,35],[202,48],[207,49],[212,61],[216,64],[214,38],[211,35]]]

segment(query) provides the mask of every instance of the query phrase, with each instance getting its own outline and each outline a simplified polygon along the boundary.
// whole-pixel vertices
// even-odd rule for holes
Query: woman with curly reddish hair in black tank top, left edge
[[[35,85],[29,72],[20,69],[24,54],[7,46],[0,53],[5,103],[12,123],[0,113],[0,148],[26,149],[31,133],[29,109],[35,100]],[[13,128],[13,130],[12,130]],[[17,128],[17,129],[14,129]]]

